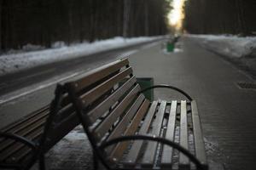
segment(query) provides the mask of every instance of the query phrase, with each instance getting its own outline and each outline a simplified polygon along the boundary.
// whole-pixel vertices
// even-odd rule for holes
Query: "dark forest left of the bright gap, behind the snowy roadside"
[[[167,0],[0,0],[0,48],[167,32]]]

